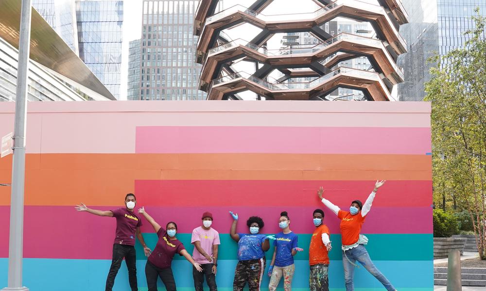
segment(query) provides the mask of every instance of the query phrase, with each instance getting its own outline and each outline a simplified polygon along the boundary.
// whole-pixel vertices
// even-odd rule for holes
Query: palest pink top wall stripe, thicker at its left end
[[[13,105],[0,102],[1,133],[13,130]],[[32,102],[28,110],[28,153],[134,153],[139,126],[430,127],[426,102]]]

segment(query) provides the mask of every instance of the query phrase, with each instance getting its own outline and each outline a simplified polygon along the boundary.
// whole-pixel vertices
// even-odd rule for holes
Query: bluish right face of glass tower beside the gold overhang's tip
[[[119,99],[123,1],[76,0],[76,20],[79,57]]]

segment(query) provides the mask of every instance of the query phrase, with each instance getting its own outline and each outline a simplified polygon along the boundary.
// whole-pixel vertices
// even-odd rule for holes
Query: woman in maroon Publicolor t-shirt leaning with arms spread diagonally
[[[167,230],[165,230],[156,223],[152,216],[145,212],[143,207],[139,209],[139,213],[154,227],[158,236],[157,245],[145,265],[148,291],[157,291],[157,277],[160,277],[167,291],[176,291],[174,275],[172,274],[171,268],[172,259],[175,254],[184,256],[197,271],[203,271],[201,265],[192,259],[182,242],[175,237],[175,233],[177,232],[175,222],[169,222],[166,226]]]

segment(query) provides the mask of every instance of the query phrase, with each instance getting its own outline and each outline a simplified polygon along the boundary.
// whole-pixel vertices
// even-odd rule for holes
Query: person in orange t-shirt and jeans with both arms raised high
[[[364,266],[364,268],[375,278],[380,281],[386,290],[396,291],[395,287],[388,281],[388,279],[378,270],[371,261],[364,244],[367,242],[367,238],[360,234],[361,227],[363,226],[366,214],[371,209],[371,204],[375,198],[378,188],[382,187],[385,180],[376,181],[373,192],[369,194],[366,202],[363,203],[360,200],[354,200],[351,202],[349,211],[339,209],[339,207],[332,204],[329,200],[322,197],[324,189],[319,188],[317,194],[322,203],[326,205],[332,212],[334,212],[339,219],[341,219],[341,240],[343,243],[343,266],[344,266],[344,279],[346,284],[346,291],[354,290],[353,275],[354,267],[357,266],[356,261]]]

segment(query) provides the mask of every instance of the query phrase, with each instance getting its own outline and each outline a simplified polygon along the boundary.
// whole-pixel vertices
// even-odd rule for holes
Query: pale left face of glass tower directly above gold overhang
[[[32,0],[32,6],[46,19],[76,54],[79,54],[74,0]]]

